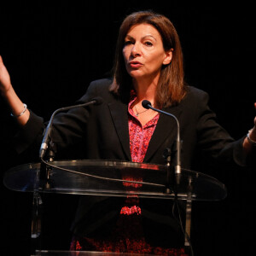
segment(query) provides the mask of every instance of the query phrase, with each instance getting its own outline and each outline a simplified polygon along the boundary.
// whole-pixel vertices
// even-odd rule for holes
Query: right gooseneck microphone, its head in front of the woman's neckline
[[[177,177],[177,184],[180,182],[180,175],[181,175],[181,141],[180,141],[180,129],[179,129],[179,122],[177,120],[177,117],[175,115],[173,115],[172,113],[168,113],[168,112],[165,112],[165,111],[162,111],[158,108],[153,108],[152,105],[151,105],[151,102],[148,102],[147,100],[144,100],[142,102],[142,105],[143,105],[143,108],[147,108],[147,109],[152,109],[156,112],[159,112],[159,113],[164,113],[166,115],[169,115],[171,116],[173,119],[176,120],[177,122],[177,140],[176,140],[176,150],[177,150],[177,153],[176,153],[176,165],[175,165],[175,168],[174,168],[174,172],[175,172],[175,176]]]

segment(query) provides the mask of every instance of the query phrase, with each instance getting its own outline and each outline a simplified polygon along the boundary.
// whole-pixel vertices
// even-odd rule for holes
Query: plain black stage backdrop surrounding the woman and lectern
[[[8,3],[4,3],[8,2]],[[118,28],[125,15],[153,9],[172,20],[183,45],[186,80],[211,96],[218,121],[235,138],[253,126],[256,102],[253,1],[2,1],[0,55],[21,100],[49,119],[73,104],[91,80],[111,72]],[[1,177],[17,158],[9,142],[15,125],[0,98]],[[193,208],[195,256],[252,255],[255,170],[202,171],[226,184],[220,202]],[[32,195],[1,187],[1,255],[29,255]],[[76,195],[44,198],[47,247],[67,249]],[[46,246],[45,246],[46,247]]]

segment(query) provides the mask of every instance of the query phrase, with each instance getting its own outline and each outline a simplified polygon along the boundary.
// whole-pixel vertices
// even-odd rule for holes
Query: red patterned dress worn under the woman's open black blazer
[[[131,160],[143,162],[148,149],[148,143],[154,133],[155,126],[159,120],[159,113],[146,125],[142,125],[131,108],[136,100],[134,92],[131,93],[131,101],[128,105],[128,125],[130,135]],[[125,180],[135,180],[134,177],[123,177]],[[143,181],[142,178],[136,179]],[[123,183],[126,186],[141,186],[140,183]],[[107,239],[92,237],[73,237],[71,250],[94,250],[115,253],[140,253],[150,255],[166,256],[188,256],[183,248],[153,247],[145,239],[142,225],[142,210],[139,207],[139,198],[136,195],[127,196],[124,206],[120,209],[119,219],[113,229],[113,233]]]

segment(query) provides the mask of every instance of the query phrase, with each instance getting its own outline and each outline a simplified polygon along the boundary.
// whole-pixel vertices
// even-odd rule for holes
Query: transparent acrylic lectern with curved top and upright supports
[[[41,204],[41,193],[135,195],[185,201],[185,233],[187,236],[184,239],[184,246],[188,247],[192,201],[223,200],[226,197],[226,189],[224,184],[217,179],[201,172],[186,169],[182,169],[177,181],[177,177],[168,168],[168,166],[118,160],[56,160],[15,166],[5,172],[3,183],[8,189],[33,193],[32,239],[38,239],[41,231],[40,212],[38,210]],[[168,177],[169,182],[166,182],[166,177]],[[96,256],[98,254],[96,252],[87,252],[87,254],[84,252],[83,254],[81,252],[37,250],[34,255]],[[106,253],[106,255],[117,254]],[[122,255],[130,254],[122,253]]]

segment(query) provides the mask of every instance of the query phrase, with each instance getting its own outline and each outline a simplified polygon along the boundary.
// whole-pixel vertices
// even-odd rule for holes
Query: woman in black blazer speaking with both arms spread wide
[[[19,144],[17,150],[23,152],[36,141],[41,143],[44,121],[27,110],[15,94],[2,59],[0,84],[11,113],[23,127],[20,137],[26,143]],[[99,106],[76,108],[55,116],[52,140],[58,154],[81,144],[87,159],[166,164],[162,154],[174,145],[176,123],[166,115],[143,108],[143,100],[179,120],[183,168],[193,169],[195,148],[214,160],[241,167],[253,154],[256,118],[247,137],[238,141],[218,125],[207,106],[207,93],[183,81],[179,38],[172,22],[163,15],[143,11],[125,18],[119,30],[113,79],[92,82],[79,102],[96,96],[103,99]],[[171,206],[166,206],[164,200],[154,201],[152,207],[147,199],[83,196],[73,222],[71,249],[183,253],[183,235],[170,212]]]

